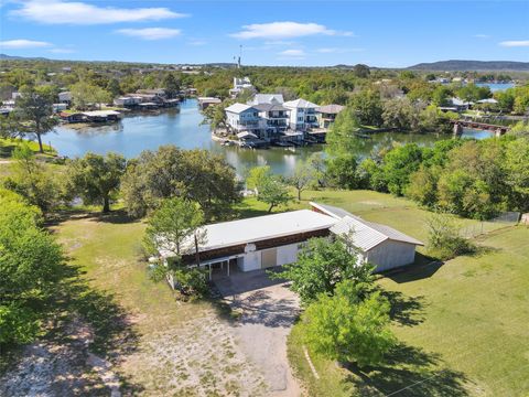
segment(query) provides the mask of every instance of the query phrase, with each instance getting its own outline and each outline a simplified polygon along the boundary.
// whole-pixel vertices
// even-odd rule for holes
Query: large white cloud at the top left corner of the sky
[[[168,8],[114,8],[98,7],[84,2],[62,0],[30,0],[11,12],[15,17],[45,24],[102,24],[117,22],[159,21],[168,18],[182,18],[186,14],[173,12]]]

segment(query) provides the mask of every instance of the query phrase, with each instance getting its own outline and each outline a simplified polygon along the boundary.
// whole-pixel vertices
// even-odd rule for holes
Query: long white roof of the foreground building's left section
[[[270,238],[290,236],[330,228],[337,221],[310,210],[291,211],[281,214],[257,216],[247,219],[222,222],[203,226],[199,234],[205,235],[199,244],[199,251],[231,247],[240,244],[261,242]],[[186,251],[194,251],[194,242],[184,242]],[[170,251],[160,251],[162,257],[170,257]]]

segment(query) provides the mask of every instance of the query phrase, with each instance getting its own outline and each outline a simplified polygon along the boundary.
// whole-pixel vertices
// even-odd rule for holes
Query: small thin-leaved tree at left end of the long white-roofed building
[[[204,213],[196,203],[182,197],[166,198],[148,221],[144,245],[150,253],[172,253],[165,262],[151,271],[151,277],[168,279],[172,288],[185,296],[202,296],[207,291],[204,271],[182,262],[182,256],[197,253],[207,236],[201,230]]]

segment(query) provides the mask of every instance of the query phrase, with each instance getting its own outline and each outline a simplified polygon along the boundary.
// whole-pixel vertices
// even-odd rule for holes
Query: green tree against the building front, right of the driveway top
[[[353,280],[364,290],[373,287],[374,267],[358,262],[356,249],[350,238],[311,238],[298,255],[294,264],[284,265],[280,273],[270,273],[272,278],[292,281],[303,304],[313,302],[320,294],[332,296],[338,282]]]

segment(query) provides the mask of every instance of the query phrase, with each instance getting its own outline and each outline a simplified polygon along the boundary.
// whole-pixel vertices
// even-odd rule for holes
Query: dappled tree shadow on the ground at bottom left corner
[[[44,302],[48,308],[43,318],[45,334],[19,350],[0,394],[31,395],[35,387],[44,387],[53,395],[110,395],[89,364],[90,355],[116,373],[116,366],[138,348],[140,335],[115,296],[91,288],[83,276],[78,267],[64,266],[56,293]],[[142,390],[123,374],[116,375],[122,393]]]

